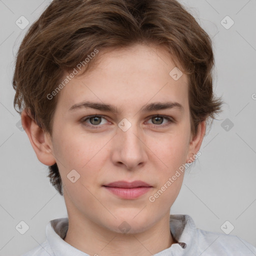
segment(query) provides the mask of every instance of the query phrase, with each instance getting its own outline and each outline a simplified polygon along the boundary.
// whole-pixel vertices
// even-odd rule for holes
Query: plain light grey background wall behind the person
[[[47,222],[67,216],[13,108],[14,56],[25,31],[50,0],[0,0],[0,255],[18,255],[42,243]],[[215,53],[214,90],[226,104],[208,129],[201,155],[174,202],[172,214],[189,214],[198,228],[230,234],[256,246],[256,0],[182,0],[209,33]],[[29,20],[25,29],[15,21]],[[226,29],[226,16],[234,24]],[[224,19],[223,22],[230,24]],[[228,118],[229,130],[221,123]],[[230,129],[231,127],[231,129]],[[25,221],[23,235],[15,226]],[[228,223],[227,229],[230,228]]]

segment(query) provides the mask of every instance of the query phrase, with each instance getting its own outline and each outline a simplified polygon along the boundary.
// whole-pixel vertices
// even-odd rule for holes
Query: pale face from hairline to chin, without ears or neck
[[[171,185],[167,181],[196,152],[188,77],[169,75],[175,65],[159,47],[139,44],[98,54],[95,68],[59,92],[50,148],[70,218],[115,232],[126,221],[134,232],[143,231],[169,213],[183,173]],[[128,194],[129,188],[105,187],[120,180],[149,187]]]

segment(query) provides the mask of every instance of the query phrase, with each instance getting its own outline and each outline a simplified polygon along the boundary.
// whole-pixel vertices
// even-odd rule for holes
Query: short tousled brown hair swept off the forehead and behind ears
[[[95,49],[134,43],[163,46],[189,77],[191,132],[208,117],[215,119],[222,101],[212,91],[211,40],[176,0],[53,0],[31,25],[19,47],[13,88],[14,108],[29,111],[38,126],[52,134],[57,95],[47,95],[65,71]],[[97,57],[84,65],[88,70]],[[63,195],[58,167],[49,166],[51,184]]]

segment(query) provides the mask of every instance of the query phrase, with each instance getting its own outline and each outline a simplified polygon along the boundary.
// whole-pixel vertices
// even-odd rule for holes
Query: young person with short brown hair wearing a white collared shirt
[[[53,0],[25,35],[14,103],[68,217],[28,255],[253,255],[170,215],[220,110],[211,41],[176,0]]]

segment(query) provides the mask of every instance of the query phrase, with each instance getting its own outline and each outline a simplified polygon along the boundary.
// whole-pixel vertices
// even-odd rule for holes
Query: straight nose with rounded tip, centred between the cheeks
[[[124,131],[117,128],[112,141],[111,160],[114,165],[133,170],[143,166],[147,160],[145,136],[135,124]]]

